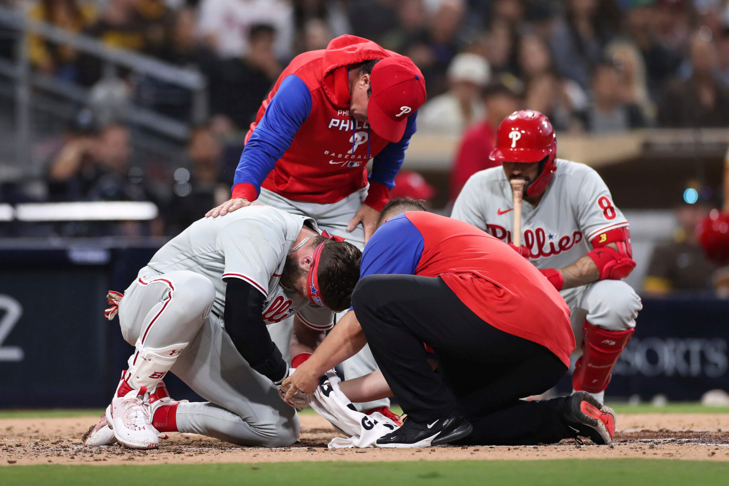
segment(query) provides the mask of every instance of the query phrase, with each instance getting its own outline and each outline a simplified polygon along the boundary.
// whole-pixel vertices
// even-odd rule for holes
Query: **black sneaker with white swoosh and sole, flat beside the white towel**
[[[448,444],[463,439],[472,430],[471,423],[460,415],[451,415],[445,419],[434,420],[432,423],[416,423],[406,419],[402,427],[380,437],[375,445],[377,447],[428,447]]]

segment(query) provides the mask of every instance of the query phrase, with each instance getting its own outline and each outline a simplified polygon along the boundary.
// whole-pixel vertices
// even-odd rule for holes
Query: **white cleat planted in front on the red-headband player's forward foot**
[[[106,408],[106,421],[114,431],[114,437],[130,449],[157,449],[160,438],[152,426],[152,415],[145,395],[147,388],[130,390],[124,396],[112,399]]]

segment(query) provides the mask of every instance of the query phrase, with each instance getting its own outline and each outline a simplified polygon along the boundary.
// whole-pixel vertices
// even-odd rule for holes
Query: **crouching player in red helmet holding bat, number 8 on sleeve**
[[[621,280],[636,266],[628,220],[596,171],[556,155],[557,137],[545,115],[512,113],[489,155],[502,167],[472,175],[451,217],[511,244],[560,291],[580,344],[572,387],[604,401],[612,367],[642,309]],[[522,187],[514,196],[512,183],[518,182]]]

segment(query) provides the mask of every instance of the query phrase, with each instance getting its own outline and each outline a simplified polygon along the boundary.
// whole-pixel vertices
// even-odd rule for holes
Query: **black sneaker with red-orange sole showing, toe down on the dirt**
[[[567,398],[562,418],[575,438],[587,437],[595,444],[608,445],[615,436],[615,411],[585,391]]]

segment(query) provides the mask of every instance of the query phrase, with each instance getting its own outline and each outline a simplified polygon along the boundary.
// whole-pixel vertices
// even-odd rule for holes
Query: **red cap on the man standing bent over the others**
[[[396,55],[375,64],[367,120],[383,139],[399,142],[410,113],[425,103],[425,78],[410,58]]]

